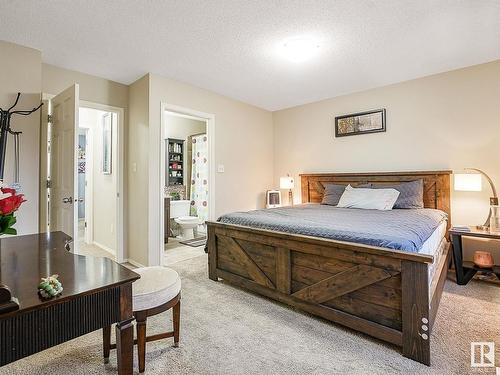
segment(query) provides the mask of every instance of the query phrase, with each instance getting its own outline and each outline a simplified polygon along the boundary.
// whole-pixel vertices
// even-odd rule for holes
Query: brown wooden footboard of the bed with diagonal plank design
[[[426,365],[447,259],[448,248],[429,287],[428,255],[208,223],[210,279],[395,344]]]

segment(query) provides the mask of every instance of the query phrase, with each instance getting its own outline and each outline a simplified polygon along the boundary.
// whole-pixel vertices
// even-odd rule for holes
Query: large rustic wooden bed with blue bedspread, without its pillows
[[[208,223],[209,277],[387,341],[404,356],[430,365],[431,330],[450,257],[450,174],[303,174],[303,205],[236,213]],[[380,213],[363,215],[353,219],[359,227],[355,233],[328,226],[328,218],[351,220],[353,210],[319,205],[328,183],[386,185],[417,179],[424,182],[425,209],[392,210],[383,219],[376,216]],[[382,226],[365,236],[377,220],[399,226],[399,234],[377,236]],[[431,222],[432,230],[420,228]]]

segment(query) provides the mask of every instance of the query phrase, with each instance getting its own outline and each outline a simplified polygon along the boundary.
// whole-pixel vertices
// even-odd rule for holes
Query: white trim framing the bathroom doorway
[[[170,112],[183,117],[205,121],[207,124],[209,150],[209,178],[208,178],[208,219],[215,217],[215,115],[196,111],[190,108],[160,102],[160,129],[150,127],[151,152],[149,158],[149,265],[160,265],[164,250],[163,200],[165,199],[165,113]],[[159,130],[159,131],[158,131]],[[157,180],[159,177],[159,181]],[[159,219],[159,220],[158,220]]]

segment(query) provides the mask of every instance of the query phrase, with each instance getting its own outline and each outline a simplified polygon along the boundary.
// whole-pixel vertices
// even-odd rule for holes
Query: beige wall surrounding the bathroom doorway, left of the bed
[[[144,94],[148,92],[149,103],[145,103]],[[159,262],[163,246],[156,236],[160,230],[158,218],[163,202],[157,194],[152,194],[160,185],[159,168],[144,154],[148,150],[149,158],[157,162],[162,157],[159,148],[164,138],[161,134],[162,102],[215,115],[214,162],[225,165],[225,173],[215,176],[216,217],[225,212],[263,207],[264,192],[273,178],[270,112],[158,75],[149,74],[135,82],[129,96],[129,168],[135,165],[137,171],[129,171],[129,194],[137,198],[130,199],[129,213],[140,215],[140,219],[129,220],[129,240],[130,257],[142,264]],[[147,111],[144,110],[146,104]],[[146,137],[148,123],[149,136]],[[149,208],[143,205],[145,198]],[[137,230],[137,222],[140,230],[132,234]],[[148,238],[144,236],[144,228]],[[148,249],[147,254],[144,248]]]

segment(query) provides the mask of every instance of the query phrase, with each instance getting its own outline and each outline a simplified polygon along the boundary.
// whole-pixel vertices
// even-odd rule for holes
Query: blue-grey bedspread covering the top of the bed
[[[378,211],[303,204],[234,212],[218,221],[416,253],[445,219],[446,213],[429,208]]]

